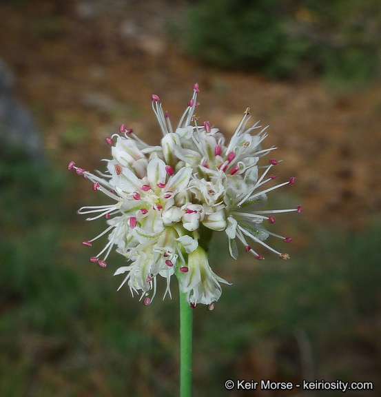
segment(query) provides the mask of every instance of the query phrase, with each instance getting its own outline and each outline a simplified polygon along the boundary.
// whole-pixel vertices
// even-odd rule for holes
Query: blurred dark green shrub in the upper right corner
[[[198,0],[178,29],[189,54],[223,68],[358,83],[380,72],[378,0]]]

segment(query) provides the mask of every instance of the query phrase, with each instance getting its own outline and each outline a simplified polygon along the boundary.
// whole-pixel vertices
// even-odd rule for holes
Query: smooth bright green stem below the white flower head
[[[180,294],[180,397],[192,397],[192,319],[187,294]]]

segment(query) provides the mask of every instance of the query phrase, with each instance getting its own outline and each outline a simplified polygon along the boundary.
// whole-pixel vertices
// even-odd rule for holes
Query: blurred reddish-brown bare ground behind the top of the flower
[[[74,159],[90,170],[108,156],[105,136],[121,123],[151,143],[160,131],[150,96],[161,96],[172,122],[200,84],[198,116],[225,134],[249,106],[269,125],[280,176],[304,217],[360,229],[381,209],[381,85],[329,88],[317,79],[269,81],[188,59],[165,30],[182,1],[25,1],[0,3],[0,57],[17,79],[17,97],[43,131],[52,163]],[[65,134],[74,125],[88,134]]]

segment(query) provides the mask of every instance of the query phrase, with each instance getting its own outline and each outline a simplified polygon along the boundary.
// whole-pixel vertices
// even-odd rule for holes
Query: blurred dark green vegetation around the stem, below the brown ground
[[[73,186],[61,172],[2,148],[0,185],[0,395],[176,396],[176,285],[172,301],[159,290],[148,307],[127,288],[116,292],[112,273],[123,260],[115,254],[101,269],[85,258]],[[101,227],[87,224],[94,235]],[[262,362],[271,363],[271,379],[301,379],[306,363],[313,380],[376,379],[381,227],[298,231],[313,243],[287,262],[245,252],[233,261],[225,236],[212,240],[211,265],[233,285],[223,285],[213,312],[194,310],[195,396],[227,395],[227,378],[260,379]],[[351,360],[338,359],[348,352]]]

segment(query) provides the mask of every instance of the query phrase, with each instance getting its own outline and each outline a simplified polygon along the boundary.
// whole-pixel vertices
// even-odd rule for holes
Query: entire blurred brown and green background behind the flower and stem
[[[381,3],[378,0],[0,1],[0,396],[178,395],[178,302],[116,292],[123,265],[90,263],[104,228],[76,214],[105,198],[66,171],[103,170],[125,123],[161,133],[198,82],[198,116],[227,136],[249,106],[269,125],[280,179],[269,196],[291,260],[229,258],[213,312],[194,310],[194,396],[338,396],[226,391],[227,379],[381,378]],[[272,241],[284,251],[282,242]],[[278,245],[277,245],[278,244]],[[163,285],[161,285],[163,287]]]

